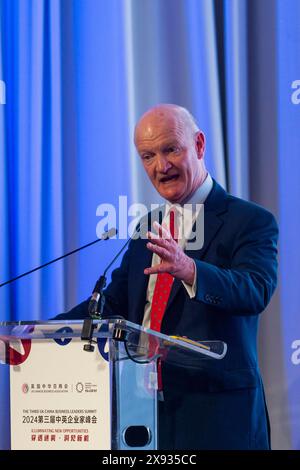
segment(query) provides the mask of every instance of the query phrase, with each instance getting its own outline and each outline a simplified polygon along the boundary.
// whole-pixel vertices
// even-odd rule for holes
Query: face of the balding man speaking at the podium
[[[153,186],[171,203],[184,204],[205,179],[204,135],[180,117],[142,118],[135,144]]]

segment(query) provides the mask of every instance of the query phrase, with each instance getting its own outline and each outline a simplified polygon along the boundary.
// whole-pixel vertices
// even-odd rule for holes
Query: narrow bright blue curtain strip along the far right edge
[[[300,3],[278,4],[278,194],[281,312],[292,447],[300,449]],[[296,83],[295,83],[296,82]],[[297,353],[298,350],[298,353]],[[278,385],[277,385],[278,386]]]

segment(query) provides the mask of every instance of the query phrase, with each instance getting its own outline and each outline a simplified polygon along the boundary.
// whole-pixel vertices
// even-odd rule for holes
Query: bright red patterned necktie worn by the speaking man
[[[172,238],[175,239],[175,212],[173,209],[170,211],[170,233]],[[161,322],[170,297],[173,281],[174,277],[169,273],[159,273],[157,275],[150,313],[150,328],[152,330],[160,331],[161,329]]]

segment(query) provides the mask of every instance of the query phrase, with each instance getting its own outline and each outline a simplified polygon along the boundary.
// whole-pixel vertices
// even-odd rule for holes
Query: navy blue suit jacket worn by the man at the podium
[[[190,299],[175,279],[161,331],[195,340],[223,340],[220,361],[163,366],[160,447],[267,449],[269,429],[257,362],[259,314],[276,287],[277,224],[262,207],[233,197],[214,181],[205,202],[204,246],[187,251],[197,268]],[[132,240],[106,289],[107,309],[141,324],[152,253]],[[84,318],[87,301],[68,318]],[[62,318],[66,318],[62,316]]]

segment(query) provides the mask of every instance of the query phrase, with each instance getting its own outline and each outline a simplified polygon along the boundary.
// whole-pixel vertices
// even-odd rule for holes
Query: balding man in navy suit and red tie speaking
[[[205,136],[186,109],[150,109],[136,126],[135,144],[166,205],[162,225],[155,222],[146,240],[132,240],[113,272],[107,312],[168,335],[223,340],[228,347],[221,361],[162,365],[160,448],[268,449],[256,337],[259,314],[276,287],[275,219],[211,178]],[[187,203],[204,204],[204,245],[196,250],[185,249]],[[191,226],[199,219],[196,207]],[[86,312],[84,302],[68,318]]]

